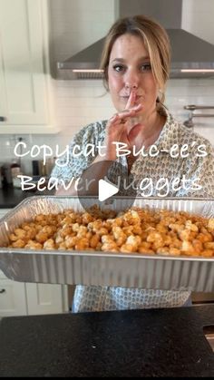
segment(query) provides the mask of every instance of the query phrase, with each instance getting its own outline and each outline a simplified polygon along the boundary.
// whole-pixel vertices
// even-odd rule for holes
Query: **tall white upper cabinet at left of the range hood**
[[[0,133],[55,133],[48,0],[0,0]]]

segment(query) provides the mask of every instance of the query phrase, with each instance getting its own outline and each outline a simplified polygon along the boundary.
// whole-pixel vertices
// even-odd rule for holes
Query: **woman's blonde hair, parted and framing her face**
[[[145,15],[124,17],[112,24],[102,49],[100,68],[104,71],[104,85],[108,90],[108,65],[112,45],[122,34],[141,37],[151,58],[151,70],[160,88],[158,102],[164,102],[165,85],[170,74],[170,39],[165,29]]]

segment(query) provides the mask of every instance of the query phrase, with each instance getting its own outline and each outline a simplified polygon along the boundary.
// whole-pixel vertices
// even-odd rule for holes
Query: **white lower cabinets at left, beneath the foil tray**
[[[7,211],[0,209],[0,217]],[[68,310],[67,286],[13,281],[0,270],[0,317],[58,314]]]

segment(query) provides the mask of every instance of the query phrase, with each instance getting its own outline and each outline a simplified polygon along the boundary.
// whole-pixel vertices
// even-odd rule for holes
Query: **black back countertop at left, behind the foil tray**
[[[12,209],[27,197],[34,197],[34,195],[53,195],[53,193],[53,190],[30,191],[15,189],[12,186],[5,187],[0,189],[0,209]]]

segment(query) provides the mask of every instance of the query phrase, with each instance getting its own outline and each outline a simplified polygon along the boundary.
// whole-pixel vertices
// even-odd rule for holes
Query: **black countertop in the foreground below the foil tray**
[[[0,375],[214,376],[209,325],[214,305],[5,317]]]

